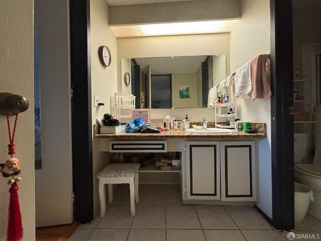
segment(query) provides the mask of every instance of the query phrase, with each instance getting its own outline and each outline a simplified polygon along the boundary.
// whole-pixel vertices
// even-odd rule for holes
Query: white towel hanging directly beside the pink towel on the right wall
[[[251,82],[251,61],[244,64],[241,68],[235,71],[235,97],[240,97],[248,94],[252,90]]]

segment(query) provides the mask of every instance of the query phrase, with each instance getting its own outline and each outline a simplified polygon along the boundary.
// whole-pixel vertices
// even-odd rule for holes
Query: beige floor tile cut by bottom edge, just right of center
[[[205,241],[202,230],[196,229],[167,229],[167,241]]]

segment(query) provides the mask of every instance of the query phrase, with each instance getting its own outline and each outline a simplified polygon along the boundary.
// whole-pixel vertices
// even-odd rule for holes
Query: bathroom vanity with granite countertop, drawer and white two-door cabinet
[[[180,168],[169,171],[155,165],[141,167],[139,183],[179,184],[184,204],[258,200],[256,143],[266,138],[265,128],[256,134],[180,130],[98,134],[99,126],[96,129],[94,138],[99,138],[102,152],[163,153],[179,159]]]

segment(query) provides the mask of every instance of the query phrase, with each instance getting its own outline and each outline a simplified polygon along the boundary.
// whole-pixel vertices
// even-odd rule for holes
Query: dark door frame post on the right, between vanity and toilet
[[[294,228],[292,0],[270,0],[272,225]]]

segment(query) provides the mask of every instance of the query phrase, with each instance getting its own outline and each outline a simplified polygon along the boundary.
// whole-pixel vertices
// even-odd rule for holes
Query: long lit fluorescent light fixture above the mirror
[[[218,20],[188,23],[111,26],[116,37],[180,35],[230,32],[238,20]]]

